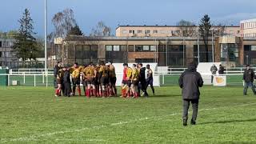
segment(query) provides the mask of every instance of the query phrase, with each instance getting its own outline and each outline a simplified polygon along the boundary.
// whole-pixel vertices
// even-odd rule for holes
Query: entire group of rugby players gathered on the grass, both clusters
[[[145,67],[142,67],[142,63],[133,64],[130,68],[128,64],[124,63],[123,77],[122,77],[122,98],[138,98],[140,90],[142,90],[144,96],[148,96],[146,88],[148,85],[154,94],[153,86],[153,71],[150,69],[150,65],[147,65],[147,78],[145,74]],[[71,81],[70,81],[71,74]],[[75,95],[76,88],[79,96],[82,95],[80,84],[83,86],[84,94],[87,98],[94,97],[110,97],[117,96],[116,88],[116,74],[115,68],[112,62],[101,62],[100,65],[94,65],[90,62],[89,65],[78,66],[78,63],[74,63],[74,66],[63,66],[61,62],[58,62],[54,68],[54,87],[55,96],[70,97]],[[71,90],[72,82],[72,90]]]

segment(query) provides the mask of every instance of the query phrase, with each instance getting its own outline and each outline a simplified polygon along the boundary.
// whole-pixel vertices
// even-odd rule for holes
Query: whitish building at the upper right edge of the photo
[[[242,37],[256,37],[256,18],[240,22]]]

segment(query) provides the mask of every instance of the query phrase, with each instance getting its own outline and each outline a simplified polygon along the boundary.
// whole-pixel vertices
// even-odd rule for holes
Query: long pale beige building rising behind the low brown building
[[[239,26],[212,26],[214,35],[240,36]],[[118,26],[115,30],[117,37],[182,37],[182,31],[196,37],[198,26]],[[210,32],[211,34],[211,32]]]

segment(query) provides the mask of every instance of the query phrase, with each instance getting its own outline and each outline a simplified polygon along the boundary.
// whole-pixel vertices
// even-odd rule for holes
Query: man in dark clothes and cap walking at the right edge
[[[250,65],[246,65],[246,70],[243,72],[243,81],[244,81],[244,89],[243,95],[247,94],[248,86],[253,90],[254,95],[256,95],[255,87],[254,87],[254,70],[250,69]]]

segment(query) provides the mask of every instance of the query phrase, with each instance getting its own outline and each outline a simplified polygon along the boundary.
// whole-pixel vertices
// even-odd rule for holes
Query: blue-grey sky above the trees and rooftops
[[[28,8],[34,19],[34,29],[43,35],[44,0],[2,0],[0,31],[17,30],[18,18]],[[256,0],[48,0],[50,19],[65,8],[74,10],[74,16],[85,34],[98,21],[115,28],[119,25],[176,25],[181,20],[198,24],[209,14],[215,24],[238,25],[239,21],[256,18]]]

